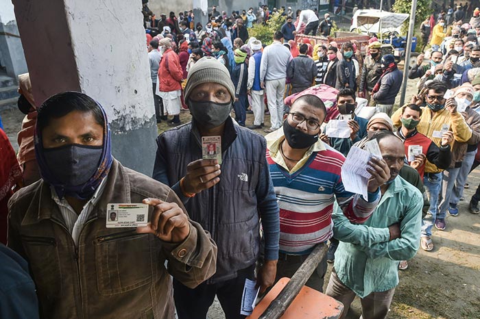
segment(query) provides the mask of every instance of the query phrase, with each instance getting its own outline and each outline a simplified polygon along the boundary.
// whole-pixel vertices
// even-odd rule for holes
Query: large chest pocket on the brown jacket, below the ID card
[[[152,283],[149,235],[121,231],[95,240],[99,294],[110,296]]]

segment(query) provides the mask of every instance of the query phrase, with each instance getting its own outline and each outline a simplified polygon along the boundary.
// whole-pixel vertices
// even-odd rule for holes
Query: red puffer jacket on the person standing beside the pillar
[[[158,68],[158,79],[160,79],[160,92],[171,92],[182,88],[183,71],[180,66],[180,58],[172,49],[163,53]]]

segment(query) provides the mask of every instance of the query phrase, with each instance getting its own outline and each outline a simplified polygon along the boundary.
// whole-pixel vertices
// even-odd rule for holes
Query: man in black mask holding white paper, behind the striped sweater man
[[[340,90],[337,95],[337,118],[328,122],[324,134],[320,136],[344,156],[350,147],[367,136],[368,120],[355,115],[355,91],[350,88]]]

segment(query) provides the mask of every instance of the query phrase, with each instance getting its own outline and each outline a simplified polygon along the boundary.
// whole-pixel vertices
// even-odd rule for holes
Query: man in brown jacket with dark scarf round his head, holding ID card
[[[112,158],[105,112],[79,92],[40,107],[35,151],[43,179],[12,196],[8,244],[29,262],[40,318],[174,318],[170,275],[195,288],[217,256],[176,194]],[[106,228],[108,204],[142,202],[147,226]]]

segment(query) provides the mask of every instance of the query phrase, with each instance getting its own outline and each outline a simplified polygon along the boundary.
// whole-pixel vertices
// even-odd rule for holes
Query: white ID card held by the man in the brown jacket
[[[107,228],[141,227],[148,223],[147,204],[108,204],[107,205]]]

